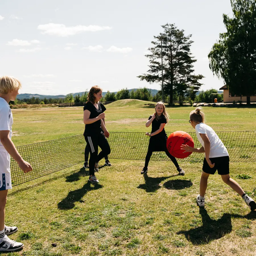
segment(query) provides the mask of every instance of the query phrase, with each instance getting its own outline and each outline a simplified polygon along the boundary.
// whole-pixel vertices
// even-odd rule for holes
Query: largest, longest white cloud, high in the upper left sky
[[[96,32],[96,31],[112,29],[109,26],[95,26],[95,25],[89,25],[89,26],[77,25],[77,26],[67,27],[64,24],[56,24],[56,23],[39,25],[37,28],[43,31],[42,34],[55,35],[55,36],[73,36],[81,32],[88,32],[88,31]]]

